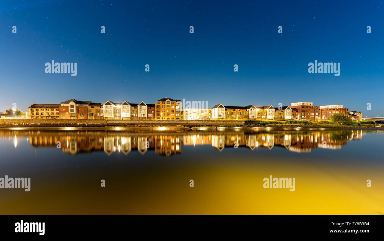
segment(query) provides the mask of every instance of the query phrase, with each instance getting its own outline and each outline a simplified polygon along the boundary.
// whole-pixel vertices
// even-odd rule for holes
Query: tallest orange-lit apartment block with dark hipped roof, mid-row
[[[181,101],[162,98],[155,102],[156,120],[180,120]]]

